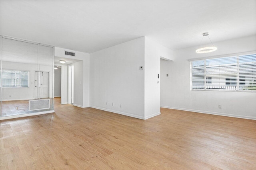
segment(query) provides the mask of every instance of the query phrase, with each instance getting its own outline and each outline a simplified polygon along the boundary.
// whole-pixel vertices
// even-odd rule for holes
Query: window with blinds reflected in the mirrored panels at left
[[[0,76],[2,76],[2,87],[29,87],[29,71],[2,70]]]

